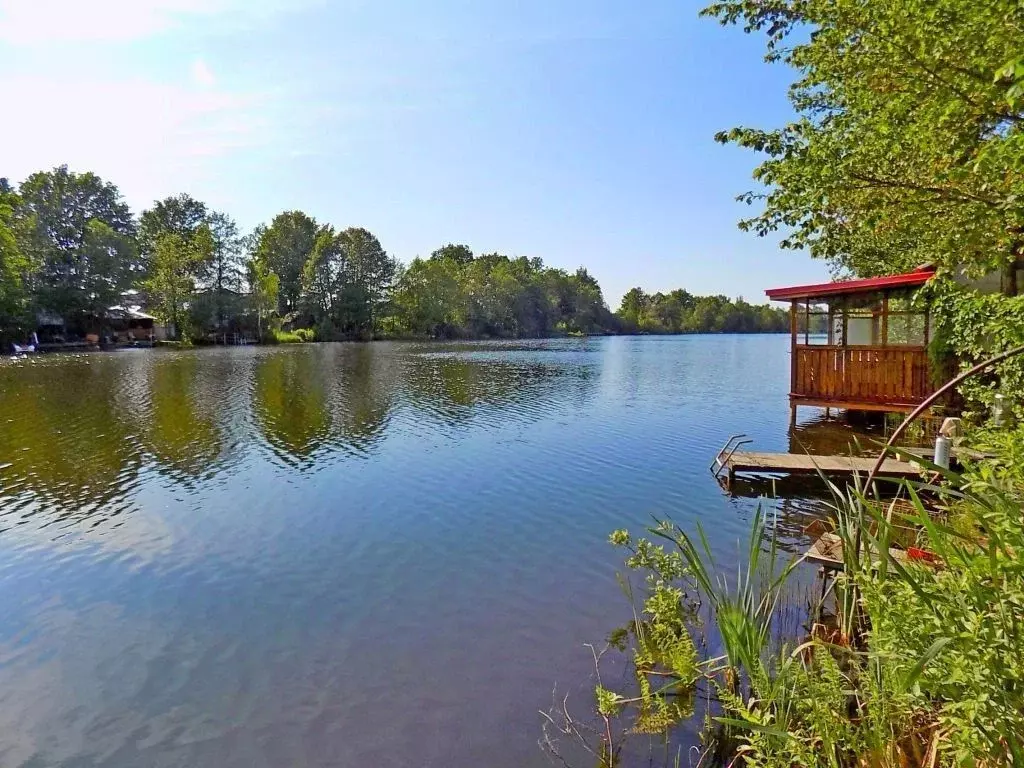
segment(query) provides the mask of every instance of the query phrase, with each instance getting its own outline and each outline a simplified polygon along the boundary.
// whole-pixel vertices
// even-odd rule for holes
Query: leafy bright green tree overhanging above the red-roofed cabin
[[[705,13],[764,33],[767,59],[798,73],[796,122],[718,136],[767,155],[754,174],[767,191],[741,198],[764,210],[742,228],[858,274],[932,261],[1014,275],[1024,104],[1016,68],[999,68],[1020,55],[1024,6],[722,0]]]

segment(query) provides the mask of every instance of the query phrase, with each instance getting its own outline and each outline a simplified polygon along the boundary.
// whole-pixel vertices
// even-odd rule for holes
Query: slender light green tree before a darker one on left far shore
[[[189,240],[178,232],[167,232],[156,241],[144,287],[156,302],[157,313],[170,325],[175,337],[182,336],[182,308],[196,290],[197,265],[212,258],[213,249],[213,234],[205,224]]]

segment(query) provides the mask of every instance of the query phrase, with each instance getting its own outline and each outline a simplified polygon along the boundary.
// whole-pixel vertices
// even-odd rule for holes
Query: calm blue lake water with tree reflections
[[[629,610],[608,534],[728,562],[725,438],[836,439],[788,373],[785,336],[4,361],[0,765],[548,765]]]

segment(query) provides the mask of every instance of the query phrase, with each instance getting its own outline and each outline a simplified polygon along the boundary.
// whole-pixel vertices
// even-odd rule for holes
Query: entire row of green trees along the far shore
[[[519,338],[620,332],[778,331],[782,312],[741,299],[634,289],[612,314],[597,281],[539,258],[450,244],[408,265],[359,227],[286,211],[243,236],[188,195],[138,216],[117,186],[61,166],[15,189],[0,179],[0,338],[40,318],[102,333],[138,305],[171,338]]]

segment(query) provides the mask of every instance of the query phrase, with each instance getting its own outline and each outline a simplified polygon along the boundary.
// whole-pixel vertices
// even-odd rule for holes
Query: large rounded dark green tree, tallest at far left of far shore
[[[29,176],[15,212],[20,248],[37,269],[37,303],[86,324],[118,303],[139,271],[135,227],[121,193],[93,173],[60,166]]]

